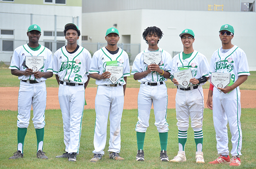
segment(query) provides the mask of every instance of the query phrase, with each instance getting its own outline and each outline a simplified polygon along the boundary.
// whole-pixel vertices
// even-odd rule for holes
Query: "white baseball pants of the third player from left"
[[[119,153],[121,149],[121,118],[124,107],[123,86],[99,85],[95,97],[96,122],[94,130],[94,154],[104,155],[107,139],[108,113],[110,139],[108,152]]]

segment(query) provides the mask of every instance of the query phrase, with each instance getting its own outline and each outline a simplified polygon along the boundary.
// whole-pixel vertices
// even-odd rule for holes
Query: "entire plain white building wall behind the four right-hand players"
[[[194,49],[204,54],[208,61],[212,53],[221,47],[218,31],[224,24],[235,29],[232,43],[247,54],[250,71],[256,71],[256,57],[253,47],[256,46],[256,13],[255,12],[221,12],[221,11],[173,11],[173,10],[127,10],[98,13],[83,13],[83,35],[92,37],[87,42],[105,42],[106,29],[117,24],[121,35],[131,34],[131,43],[140,43],[141,50],[147,48],[142,38],[148,26],[159,27],[164,36],[159,46],[169,52],[183,51],[179,34],[184,29],[195,32]],[[121,39],[121,38],[120,38]],[[172,56],[173,57],[173,56]]]

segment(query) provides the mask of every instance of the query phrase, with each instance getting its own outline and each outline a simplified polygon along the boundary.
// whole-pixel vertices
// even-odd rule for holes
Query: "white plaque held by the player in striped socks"
[[[189,80],[193,78],[191,69],[174,72],[173,76],[179,82],[179,85],[183,86],[185,89],[189,86]]]

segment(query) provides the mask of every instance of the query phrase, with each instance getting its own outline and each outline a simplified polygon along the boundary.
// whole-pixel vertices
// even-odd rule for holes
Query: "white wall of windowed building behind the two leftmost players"
[[[15,40],[14,49],[28,43],[26,32],[31,24],[37,24],[41,27],[42,34],[39,40],[41,45],[44,45],[44,40],[53,41],[54,36],[44,36],[44,31],[55,30],[55,15],[57,16],[57,32],[63,32],[65,24],[72,23],[73,17],[76,17],[74,23],[78,24],[79,29],[81,29],[81,6],[0,3],[0,11],[0,29],[14,30],[14,35],[0,35],[0,38]],[[32,14],[32,20],[30,14]],[[79,20],[77,20],[77,17]],[[66,41],[64,36],[57,37],[57,41],[59,40]],[[79,43],[81,43],[81,40],[79,40]],[[12,53],[0,51],[0,61],[9,63]]]

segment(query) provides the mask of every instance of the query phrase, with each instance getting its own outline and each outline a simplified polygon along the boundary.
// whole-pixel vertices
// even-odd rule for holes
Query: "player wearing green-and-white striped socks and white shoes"
[[[183,52],[180,52],[172,59],[171,80],[177,86],[175,98],[176,118],[178,126],[179,151],[170,162],[186,161],[185,144],[187,140],[187,130],[189,128],[189,116],[191,127],[194,130],[196,145],[196,163],[204,163],[203,149],[203,115],[204,115],[204,94],[202,85],[209,78],[209,63],[207,58],[193,49],[195,34],[191,29],[185,29],[180,34],[183,44]],[[188,88],[179,85],[173,73],[190,69],[193,78],[189,80]]]

